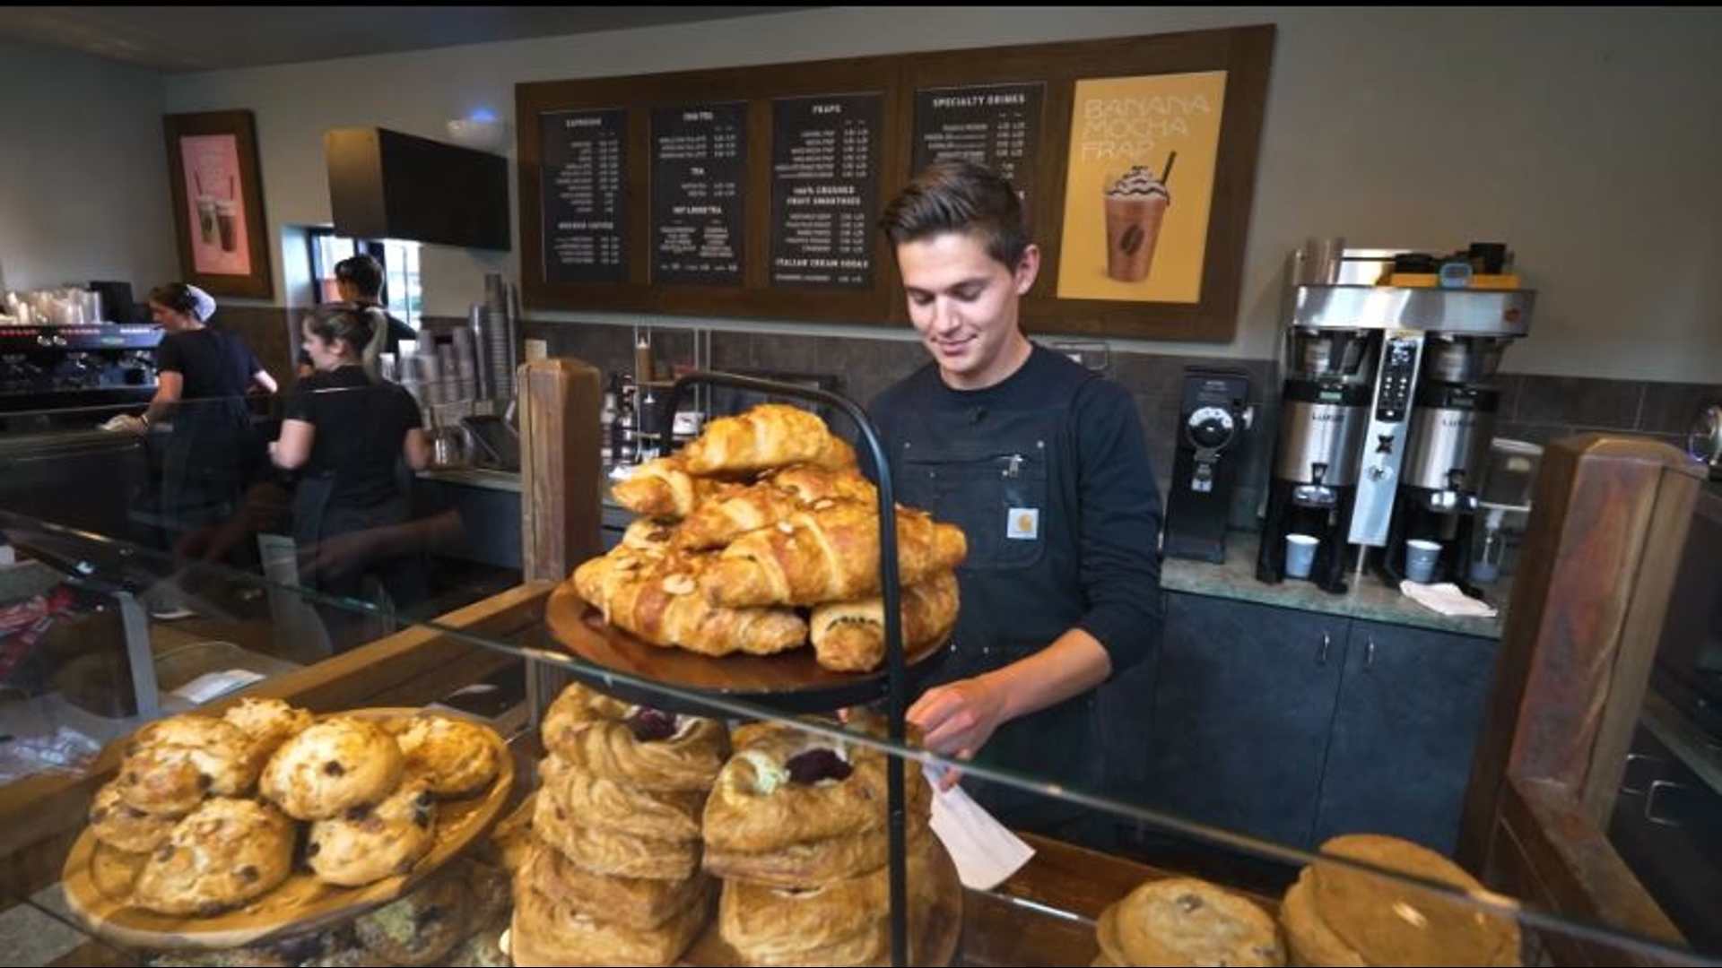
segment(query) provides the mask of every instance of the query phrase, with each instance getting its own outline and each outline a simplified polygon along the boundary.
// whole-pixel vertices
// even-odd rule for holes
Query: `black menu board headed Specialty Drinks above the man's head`
[[[914,171],[945,158],[985,165],[1031,210],[1045,93],[1042,83],[914,91]]]

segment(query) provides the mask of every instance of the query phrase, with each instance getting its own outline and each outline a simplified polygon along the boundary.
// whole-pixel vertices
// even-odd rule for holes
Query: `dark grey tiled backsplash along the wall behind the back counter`
[[[529,339],[544,339],[553,357],[579,357],[606,374],[634,367],[632,329],[625,326],[527,320],[522,324],[522,334]],[[713,369],[833,374],[840,381],[839,391],[861,403],[926,362],[926,351],[918,343],[904,339],[734,331],[711,331],[709,336]],[[660,370],[672,363],[691,363],[694,334],[685,329],[654,329],[653,355]],[[1279,388],[1274,362],[1111,353],[1106,372],[1135,394],[1137,412],[1149,436],[1154,479],[1162,498],[1176,448],[1185,367],[1228,367],[1250,374],[1257,415],[1243,451],[1236,455],[1243,465],[1231,517],[1235,527],[1255,527],[1255,508],[1267,482],[1273,434],[1278,425]],[[1496,382],[1502,388],[1496,436],[1533,443],[1546,443],[1579,431],[1619,431],[1653,436],[1684,448],[1686,429],[1698,408],[1703,403],[1722,401],[1722,384],[1517,374],[1502,374]]]

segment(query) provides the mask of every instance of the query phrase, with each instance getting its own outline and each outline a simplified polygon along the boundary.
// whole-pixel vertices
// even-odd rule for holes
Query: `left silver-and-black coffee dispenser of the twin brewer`
[[[1286,536],[1307,534],[1317,539],[1309,579],[1322,591],[1345,591],[1345,543],[1379,341],[1379,329],[1335,320],[1286,331],[1279,436],[1255,556],[1259,580],[1281,582]]]

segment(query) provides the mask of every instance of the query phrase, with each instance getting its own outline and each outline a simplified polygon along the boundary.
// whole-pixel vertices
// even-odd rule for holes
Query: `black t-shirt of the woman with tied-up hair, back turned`
[[[400,493],[394,462],[406,431],[424,425],[418,403],[350,365],[315,372],[288,396],[282,417],[317,429],[305,475],[332,475],[332,506],[369,508]]]

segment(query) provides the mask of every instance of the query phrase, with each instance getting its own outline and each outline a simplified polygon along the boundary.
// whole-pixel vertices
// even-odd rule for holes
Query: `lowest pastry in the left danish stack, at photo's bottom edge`
[[[601,921],[515,878],[515,965],[673,965],[706,923],[711,892],[653,930]]]

